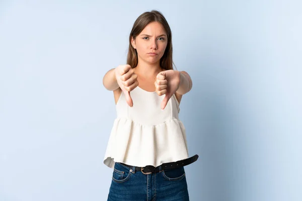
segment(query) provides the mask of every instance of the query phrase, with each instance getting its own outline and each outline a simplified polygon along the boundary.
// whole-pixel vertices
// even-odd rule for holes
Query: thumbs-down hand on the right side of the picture
[[[178,70],[162,71],[156,76],[154,84],[158,95],[166,94],[161,103],[161,109],[164,110],[169,99],[179,88],[180,72]]]

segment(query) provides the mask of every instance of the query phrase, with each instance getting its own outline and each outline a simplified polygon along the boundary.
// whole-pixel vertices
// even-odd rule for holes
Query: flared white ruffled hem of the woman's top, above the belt
[[[104,164],[110,168],[114,167],[115,162],[138,167],[157,167],[186,158],[189,158],[186,131],[178,119],[146,126],[118,118],[111,130]]]

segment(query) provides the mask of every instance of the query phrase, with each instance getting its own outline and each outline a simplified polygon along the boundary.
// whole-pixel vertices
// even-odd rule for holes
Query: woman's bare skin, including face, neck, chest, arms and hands
[[[137,86],[146,91],[156,91],[158,95],[165,95],[161,104],[162,109],[166,107],[173,94],[180,103],[182,95],[191,90],[192,80],[185,71],[161,68],[160,59],[167,47],[164,27],[158,22],[148,24],[135,40],[132,38],[131,45],[137,51],[137,66],[131,68],[129,65],[120,65],[109,70],[103,78],[104,86],[108,90],[113,90],[115,103],[124,92],[127,104],[132,107],[135,103],[132,101],[130,91]]]

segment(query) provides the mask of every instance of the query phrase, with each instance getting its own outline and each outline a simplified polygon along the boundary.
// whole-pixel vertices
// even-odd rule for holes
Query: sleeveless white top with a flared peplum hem
[[[116,104],[117,118],[109,137],[104,164],[114,168],[115,162],[155,167],[188,157],[186,131],[178,119],[179,103],[175,94],[161,110],[165,95],[140,87],[130,91],[133,107],[122,92]]]

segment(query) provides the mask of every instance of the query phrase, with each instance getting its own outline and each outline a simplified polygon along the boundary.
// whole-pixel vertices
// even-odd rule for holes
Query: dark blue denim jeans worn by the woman
[[[143,174],[116,162],[107,201],[126,200],[188,201],[184,167]]]

